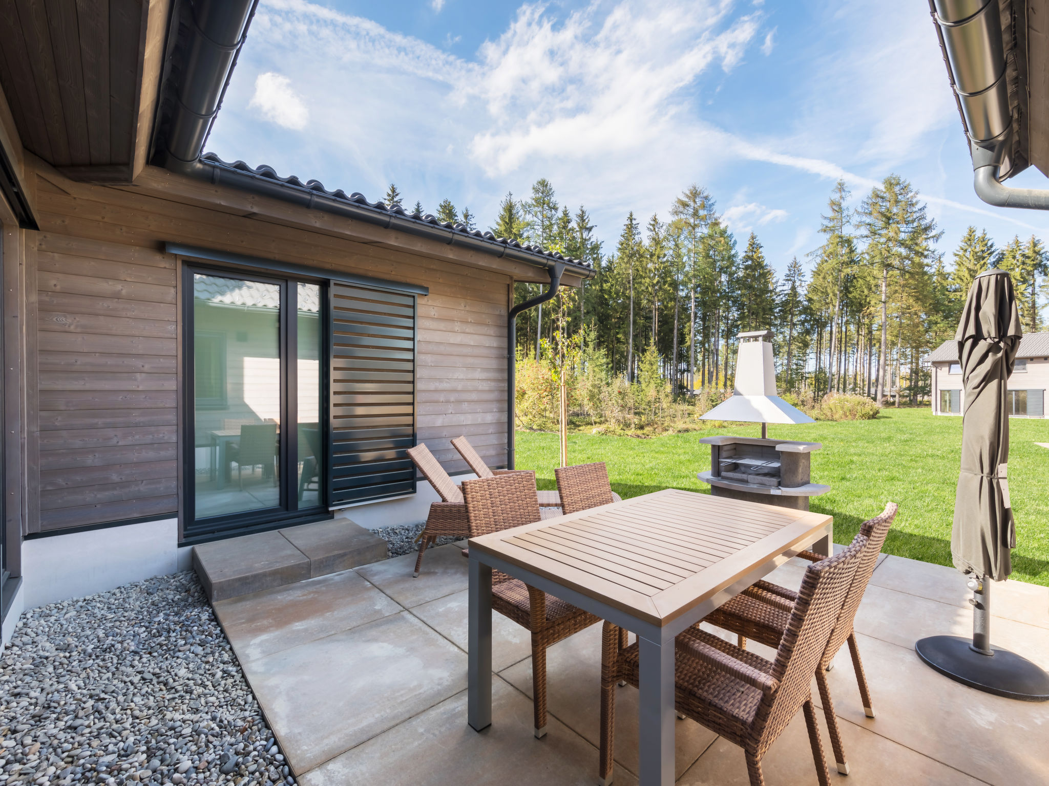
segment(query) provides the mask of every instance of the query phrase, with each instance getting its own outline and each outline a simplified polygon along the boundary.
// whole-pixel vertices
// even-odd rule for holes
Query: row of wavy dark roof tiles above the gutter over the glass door
[[[342,189],[336,189],[335,191],[328,191],[324,188],[324,183],[320,180],[306,180],[303,182],[297,175],[288,175],[287,177],[281,177],[277,174],[277,171],[267,165],[260,165],[258,167],[251,167],[243,161],[237,160],[232,163],[229,161],[223,161],[214,153],[205,153],[200,156],[202,161],[214,167],[220,167],[222,169],[233,170],[236,172],[241,172],[249,175],[254,175],[256,177],[262,177],[267,180],[272,180],[275,183],[280,183],[288,189],[295,189],[304,192],[312,192],[317,195],[325,196],[337,202],[342,202],[345,204],[352,204],[358,208],[364,208],[369,211],[373,211],[377,215],[392,215],[399,216],[402,219],[407,219],[409,221],[418,222],[420,226],[429,225],[432,227],[442,227],[445,230],[450,230],[464,237],[476,238],[484,243],[493,246],[492,250],[496,250],[498,246],[504,248],[516,248],[533,256],[538,260],[551,260],[557,262],[563,262],[570,269],[576,268],[577,275],[582,275],[584,278],[590,278],[593,276],[594,266],[584,262],[580,259],[575,259],[574,257],[566,257],[559,252],[550,252],[542,248],[539,245],[529,245],[527,243],[520,243],[516,240],[509,240],[507,238],[498,238],[491,232],[480,232],[479,230],[471,230],[466,224],[451,221],[441,221],[436,216],[429,213],[409,213],[400,204],[388,205],[385,202],[369,202],[368,199],[358,192],[347,195]],[[319,206],[319,205],[318,205]]]

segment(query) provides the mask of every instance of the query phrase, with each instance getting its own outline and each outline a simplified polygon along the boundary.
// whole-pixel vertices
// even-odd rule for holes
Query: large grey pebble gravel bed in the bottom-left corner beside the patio
[[[294,784],[192,572],[26,612],[0,660],[0,784]]]

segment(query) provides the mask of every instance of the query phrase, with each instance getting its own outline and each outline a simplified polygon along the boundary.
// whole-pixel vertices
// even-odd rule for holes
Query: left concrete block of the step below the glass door
[[[273,530],[194,546],[193,568],[215,602],[308,578],[309,558]]]

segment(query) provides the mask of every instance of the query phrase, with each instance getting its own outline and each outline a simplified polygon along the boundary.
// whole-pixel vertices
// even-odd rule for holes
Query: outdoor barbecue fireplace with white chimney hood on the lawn
[[[703,415],[704,420],[742,420],[762,424],[762,437],[705,437],[710,471],[697,477],[714,497],[809,509],[809,498],[831,490],[810,482],[810,457],[819,442],[768,439],[768,423],[811,423],[811,417],[776,392],[770,330],[740,333],[733,395]]]

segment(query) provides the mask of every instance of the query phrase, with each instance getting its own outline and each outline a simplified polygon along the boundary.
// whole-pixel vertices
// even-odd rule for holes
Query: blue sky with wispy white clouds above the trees
[[[694,182],[778,271],[818,246],[837,177],[853,206],[911,180],[948,262],[969,224],[1049,242],[1044,213],[973,194],[924,0],[262,0],[207,148],[481,228],[547,177],[606,250]]]

